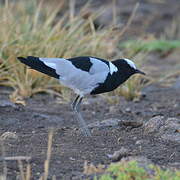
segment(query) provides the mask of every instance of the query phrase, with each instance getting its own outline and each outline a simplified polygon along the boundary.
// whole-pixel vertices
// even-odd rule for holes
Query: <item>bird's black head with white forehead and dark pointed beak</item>
[[[139,69],[137,69],[134,62],[131,61],[130,59],[115,60],[114,65],[117,66],[119,72],[123,72],[124,74],[127,74],[128,76],[131,76],[136,73],[145,75],[143,71],[140,71]]]

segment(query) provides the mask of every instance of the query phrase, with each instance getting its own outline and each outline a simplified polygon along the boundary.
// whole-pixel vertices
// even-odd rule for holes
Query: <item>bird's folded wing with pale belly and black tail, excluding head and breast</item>
[[[93,57],[64,59],[28,56],[18,59],[32,69],[59,79],[62,84],[83,95],[103,83],[110,72],[108,61]]]

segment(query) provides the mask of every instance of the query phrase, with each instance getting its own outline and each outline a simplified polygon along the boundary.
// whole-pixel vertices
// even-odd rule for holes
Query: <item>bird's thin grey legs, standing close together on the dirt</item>
[[[84,119],[82,118],[81,113],[80,113],[80,104],[82,102],[82,99],[83,98],[78,95],[76,97],[76,99],[74,100],[74,102],[72,103],[72,108],[77,115],[78,123],[79,123],[80,128],[83,131],[84,135],[91,136],[91,133],[86,125],[86,122],[84,121]]]

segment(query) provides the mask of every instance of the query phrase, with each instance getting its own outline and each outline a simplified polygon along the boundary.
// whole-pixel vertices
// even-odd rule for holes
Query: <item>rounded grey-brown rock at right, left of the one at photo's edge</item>
[[[144,124],[145,133],[157,133],[164,125],[164,116],[155,116]]]

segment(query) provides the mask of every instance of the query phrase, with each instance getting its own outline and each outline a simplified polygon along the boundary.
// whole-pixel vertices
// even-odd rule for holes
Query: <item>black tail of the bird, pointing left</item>
[[[28,56],[27,58],[17,57],[17,59],[32,69],[35,69],[39,72],[42,72],[51,77],[59,79],[59,75],[56,73],[56,70],[46,66],[41,60],[39,60],[38,57],[34,57],[34,56]]]

